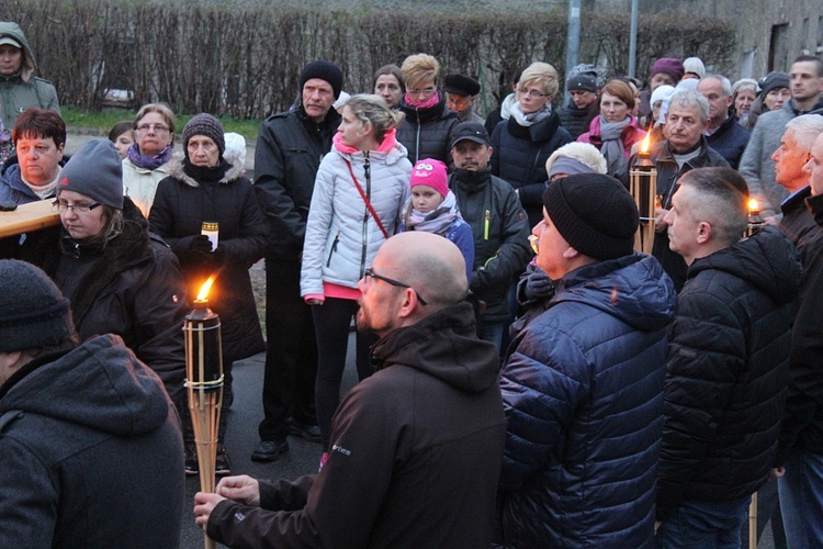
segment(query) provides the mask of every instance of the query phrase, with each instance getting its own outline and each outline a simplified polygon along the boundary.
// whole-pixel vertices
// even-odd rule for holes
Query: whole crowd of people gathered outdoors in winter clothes
[[[0,22],[0,201],[59,214],[0,240],[0,546],[177,546],[210,277],[224,407],[266,352],[250,459],[319,445],[316,474],[230,477],[222,414],[194,515],[229,547],[741,547],[755,493],[757,536],[823,545],[821,59],[732,83],[664,57],[647,88],[534,61],[486,119],[431,55],[352,96],[313,60],[253,180],[210,113],[176,152],[162,102],[65,157],[35,71]]]

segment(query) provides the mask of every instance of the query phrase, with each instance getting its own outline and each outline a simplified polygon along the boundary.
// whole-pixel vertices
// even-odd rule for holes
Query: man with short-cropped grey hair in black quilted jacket
[[[689,270],[669,328],[659,547],[740,547],[777,452],[801,269],[774,227],[741,239],[747,200],[735,170],[696,169],[665,217]]]

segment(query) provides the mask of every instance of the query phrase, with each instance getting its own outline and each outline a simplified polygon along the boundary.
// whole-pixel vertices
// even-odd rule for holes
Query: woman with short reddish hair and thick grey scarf
[[[600,114],[589,125],[588,132],[577,137],[602,153],[608,163],[607,175],[620,177],[628,169],[632,145],[645,137],[632,116],[634,92],[621,80],[609,80],[600,90]]]

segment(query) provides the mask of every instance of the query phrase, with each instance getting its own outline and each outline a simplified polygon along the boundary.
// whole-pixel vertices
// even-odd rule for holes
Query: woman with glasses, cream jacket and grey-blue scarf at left
[[[148,217],[157,184],[169,175],[174,144],[174,113],[165,103],[140,107],[134,117],[136,142],[123,160],[123,188],[126,197]]]

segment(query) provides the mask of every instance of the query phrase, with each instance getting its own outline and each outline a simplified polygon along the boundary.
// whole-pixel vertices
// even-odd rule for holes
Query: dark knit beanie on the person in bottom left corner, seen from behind
[[[0,352],[59,345],[75,334],[69,302],[37,267],[0,260]]]

